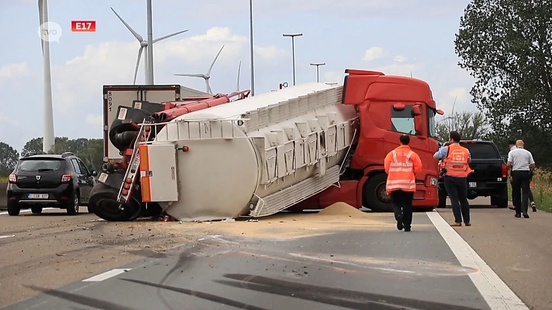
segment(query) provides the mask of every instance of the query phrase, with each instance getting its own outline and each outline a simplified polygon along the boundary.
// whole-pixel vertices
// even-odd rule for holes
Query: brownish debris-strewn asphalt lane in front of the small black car
[[[184,242],[166,223],[107,223],[81,207],[77,216],[0,212],[0,306],[36,295]],[[61,309],[61,308],[60,308]]]

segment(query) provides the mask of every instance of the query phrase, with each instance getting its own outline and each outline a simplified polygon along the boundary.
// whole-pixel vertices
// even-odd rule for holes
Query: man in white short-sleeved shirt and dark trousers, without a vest
[[[515,217],[529,218],[527,209],[529,207],[529,183],[531,180],[530,171],[535,169],[533,154],[524,149],[522,140],[515,141],[515,149],[508,153],[508,168],[511,170],[512,198],[515,197]]]

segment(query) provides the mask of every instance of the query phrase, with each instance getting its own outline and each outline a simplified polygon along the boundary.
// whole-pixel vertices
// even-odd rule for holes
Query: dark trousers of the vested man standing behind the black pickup
[[[468,182],[466,178],[444,176],[444,188],[451,198],[455,223],[470,223],[470,203],[468,202]]]

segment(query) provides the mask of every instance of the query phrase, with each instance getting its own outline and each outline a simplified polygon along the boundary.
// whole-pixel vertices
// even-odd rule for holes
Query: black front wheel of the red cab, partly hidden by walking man
[[[376,174],[368,178],[368,182],[364,185],[362,193],[364,207],[375,212],[393,212],[391,197],[385,189],[386,182],[386,174]]]

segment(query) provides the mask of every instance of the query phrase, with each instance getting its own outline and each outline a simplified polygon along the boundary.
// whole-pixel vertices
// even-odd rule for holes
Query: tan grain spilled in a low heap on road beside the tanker
[[[336,231],[351,229],[393,228],[395,222],[389,220],[388,214],[367,214],[346,203],[335,203],[317,213],[281,212],[259,218],[258,222],[248,222],[247,218],[239,218],[235,223],[184,223],[179,227],[190,233],[282,240],[333,234]]]

